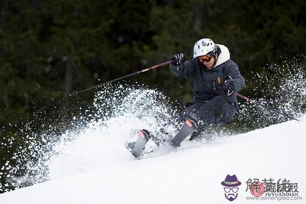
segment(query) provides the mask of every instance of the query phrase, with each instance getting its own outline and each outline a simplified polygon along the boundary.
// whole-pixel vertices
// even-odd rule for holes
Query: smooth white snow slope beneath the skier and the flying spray
[[[184,142],[169,154],[135,160],[123,147],[108,149],[95,170],[0,195],[1,203],[231,203],[224,197],[227,174],[241,181],[232,203],[256,203],[246,181],[270,177],[298,183],[306,203],[306,116],[209,144]],[[86,142],[85,140],[82,142]],[[103,142],[103,141],[97,141]],[[114,143],[115,144],[115,143]],[[78,145],[78,144],[76,144]],[[122,145],[122,144],[121,144]],[[80,152],[80,155],[86,152]],[[261,202],[278,202],[265,200]]]

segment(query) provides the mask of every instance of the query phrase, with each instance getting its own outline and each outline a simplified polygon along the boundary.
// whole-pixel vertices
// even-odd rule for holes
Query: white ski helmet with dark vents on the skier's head
[[[193,58],[207,55],[212,53],[212,56],[216,58],[217,56],[217,46],[216,44],[209,38],[203,38],[197,41],[193,47]]]

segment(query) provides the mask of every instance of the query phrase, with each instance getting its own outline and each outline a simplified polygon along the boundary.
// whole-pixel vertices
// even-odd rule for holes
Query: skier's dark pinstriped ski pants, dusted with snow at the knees
[[[236,106],[228,103],[223,96],[215,96],[206,102],[195,101],[180,114],[179,121],[184,122],[188,118],[198,121],[198,128],[192,134],[192,138],[195,138],[212,123],[230,122],[236,110]]]

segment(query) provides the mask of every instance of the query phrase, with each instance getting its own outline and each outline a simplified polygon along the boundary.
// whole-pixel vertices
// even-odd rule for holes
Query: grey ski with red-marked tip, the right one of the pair
[[[181,130],[173,137],[170,141],[170,144],[174,147],[179,147],[180,144],[187,138],[190,134],[192,134],[198,127],[198,123],[195,119],[189,118],[187,119]]]

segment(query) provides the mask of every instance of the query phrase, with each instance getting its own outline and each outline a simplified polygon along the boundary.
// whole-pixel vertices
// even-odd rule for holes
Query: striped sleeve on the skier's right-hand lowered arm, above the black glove
[[[233,83],[236,91],[240,91],[244,87],[244,78],[239,72],[238,65],[235,62],[228,64],[225,68],[225,75],[228,75],[227,83]]]

